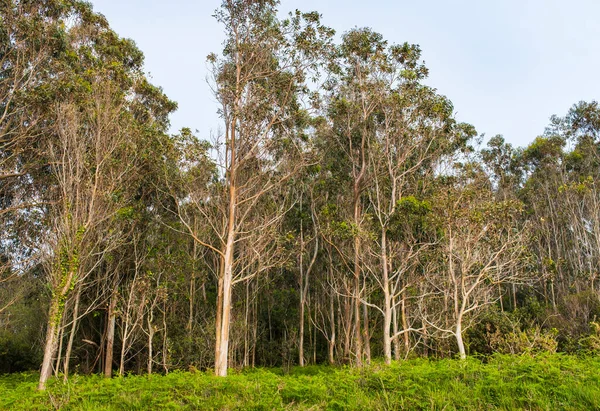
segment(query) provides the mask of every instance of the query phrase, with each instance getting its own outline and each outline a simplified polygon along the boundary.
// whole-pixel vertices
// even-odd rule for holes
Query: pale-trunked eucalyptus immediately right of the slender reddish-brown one
[[[378,237],[375,254],[380,268],[371,267],[369,271],[383,292],[383,306],[376,308],[384,317],[387,363],[391,361],[392,341],[402,333],[408,338],[409,330],[398,331],[396,324],[391,334],[392,317],[396,308],[406,303],[405,274],[417,262],[422,248],[422,244],[415,243],[419,239],[411,236],[413,230],[402,227],[400,220],[407,221],[408,217],[401,216],[403,201],[420,195],[426,180],[433,178],[440,159],[464,147],[474,135],[472,126],[453,119],[453,106],[447,98],[420,83],[427,75],[420,54],[414,45],[387,48],[381,55],[380,82],[370,92],[378,101],[374,138],[368,147],[372,181],[368,196]],[[405,310],[402,317],[406,324]]]

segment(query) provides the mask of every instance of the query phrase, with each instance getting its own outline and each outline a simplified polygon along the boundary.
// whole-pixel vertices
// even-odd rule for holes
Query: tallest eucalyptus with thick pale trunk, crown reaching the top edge
[[[279,20],[277,6],[275,0],[225,0],[215,13],[226,40],[222,56],[208,60],[224,135],[213,145],[217,178],[210,194],[188,185],[195,194],[185,205],[208,230],[198,232],[191,213],[182,207],[179,213],[194,240],[219,258],[219,376],[227,375],[233,287],[282,262],[277,226],[290,204],[279,188],[305,164],[302,97],[333,34],[317,13],[296,11]]]

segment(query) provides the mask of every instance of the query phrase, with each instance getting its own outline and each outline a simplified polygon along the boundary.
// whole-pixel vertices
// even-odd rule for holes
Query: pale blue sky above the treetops
[[[155,85],[179,104],[171,118],[208,138],[219,128],[206,56],[219,52],[220,0],[91,0],[146,56]],[[282,0],[281,13],[318,11],[338,34],[371,27],[390,43],[419,44],[427,84],[457,120],[526,146],[551,115],[600,99],[599,0]]]

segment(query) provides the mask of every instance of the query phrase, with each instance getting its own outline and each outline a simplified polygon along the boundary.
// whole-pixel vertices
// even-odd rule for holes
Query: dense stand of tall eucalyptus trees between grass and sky
[[[0,373],[598,352],[598,103],[514,147],[418,45],[277,7],[223,0],[221,125],[172,134],[90,4],[0,0]]]

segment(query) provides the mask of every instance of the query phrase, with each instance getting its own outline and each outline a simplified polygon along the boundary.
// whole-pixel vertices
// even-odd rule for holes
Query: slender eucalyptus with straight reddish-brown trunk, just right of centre
[[[363,363],[363,343],[367,335],[361,330],[361,305],[363,303],[363,267],[361,249],[366,236],[364,229],[364,193],[369,182],[369,144],[375,139],[377,112],[380,107],[381,89],[387,80],[385,75],[388,56],[387,43],[381,35],[370,29],[354,29],[342,38],[329,66],[330,80],[327,85],[326,112],[328,138],[339,153],[339,164],[334,170],[347,180],[351,193],[348,210],[353,230],[353,298],[354,357],[356,364]]]

